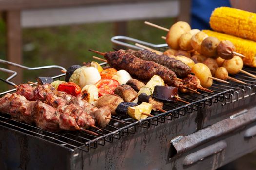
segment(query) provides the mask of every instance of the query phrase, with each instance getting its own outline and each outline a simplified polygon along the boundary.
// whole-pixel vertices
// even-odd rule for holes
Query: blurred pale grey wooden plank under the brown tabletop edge
[[[122,3],[100,6],[51,8],[22,11],[22,27],[124,21],[145,18],[177,17],[179,0],[158,0],[148,3]]]

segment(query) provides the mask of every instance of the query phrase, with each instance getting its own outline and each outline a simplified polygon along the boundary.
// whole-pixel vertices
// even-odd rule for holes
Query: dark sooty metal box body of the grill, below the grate
[[[234,100],[234,98],[233,98]],[[226,101],[229,102],[229,101]],[[98,146],[89,152],[79,149],[67,149],[59,144],[49,142],[47,139],[28,135],[13,128],[1,125],[0,128],[0,165],[3,169],[28,170],[95,170],[95,169],[198,169],[204,167],[212,169],[220,167],[246,153],[256,149],[256,139],[244,138],[245,131],[255,127],[256,108],[255,95],[236,102],[213,104],[200,108],[191,114],[173,118],[171,121],[151,125],[149,128],[136,127],[136,133],[120,140],[106,142],[105,146]],[[230,119],[231,115],[241,112],[238,118],[252,119],[252,122],[242,124],[236,130],[223,133],[211,140],[203,139],[197,147],[181,154],[172,151],[171,140],[177,136],[189,136],[199,129]],[[253,113],[253,114],[252,114]],[[247,116],[248,115],[248,116]],[[250,116],[249,116],[250,115]],[[252,116],[254,115],[254,117]],[[232,122],[232,119],[229,120]],[[191,166],[183,166],[184,159],[189,154],[203,149],[220,141],[225,141],[227,147]],[[174,155],[174,157],[172,157]]]

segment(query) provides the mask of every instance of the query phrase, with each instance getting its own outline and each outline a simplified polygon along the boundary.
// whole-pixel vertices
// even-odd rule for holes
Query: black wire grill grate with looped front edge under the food
[[[101,65],[106,65],[106,63],[102,63]],[[248,72],[256,73],[256,68],[244,69]],[[53,78],[61,80],[64,76],[65,74],[61,74]],[[255,94],[256,79],[241,73],[234,76],[234,78],[242,80],[248,83],[248,85],[231,81],[229,81],[230,84],[214,81],[210,88],[214,93],[200,91],[201,94],[180,94],[180,96],[185,101],[190,102],[190,104],[184,104],[182,102],[165,103],[163,109],[167,110],[167,112],[160,113],[153,111],[152,115],[154,115],[154,117],[149,117],[141,121],[135,121],[129,117],[123,119],[118,116],[112,116],[115,119],[123,120],[125,124],[113,122],[111,120],[106,128],[102,128],[102,132],[89,128],[89,130],[98,133],[99,136],[93,136],[80,131],[48,132],[39,129],[36,126],[13,120],[8,114],[0,115],[0,126],[39,137],[71,150],[79,149],[88,152],[90,149],[96,149],[98,145],[104,146],[107,142],[112,143],[114,140],[134,134],[136,133],[137,128],[157,126],[158,124],[165,123],[166,121],[171,121],[172,119],[185,116],[186,114],[197,111],[205,106],[211,106],[214,103],[225,105],[226,103],[234,102]],[[0,97],[10,92],[15,92],[15,89],[0,93]]]

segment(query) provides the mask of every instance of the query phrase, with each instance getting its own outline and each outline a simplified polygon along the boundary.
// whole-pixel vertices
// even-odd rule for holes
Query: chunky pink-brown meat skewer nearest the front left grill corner
[[[48,131],[84,130],[93,135],[94,132],[83,129],[93,126],[94,120],[84,113],[79,113],[77,106],[59,106],[59,111],[41,101],[28,101],[24,96],[18,94],[6,94],[0,98],[0,112],[10,113],[12,119],[35,123],[37,127]],[[60,112],[61,111],[61,112]],[[88,117],[88,116],[89,117]]]

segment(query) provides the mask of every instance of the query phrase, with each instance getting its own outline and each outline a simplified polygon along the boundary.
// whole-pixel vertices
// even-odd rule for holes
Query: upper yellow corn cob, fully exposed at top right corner
[[[229,7],[216,8],[210,26],[217,32],[256,41],[256,14]]]

